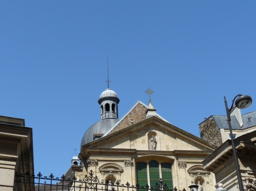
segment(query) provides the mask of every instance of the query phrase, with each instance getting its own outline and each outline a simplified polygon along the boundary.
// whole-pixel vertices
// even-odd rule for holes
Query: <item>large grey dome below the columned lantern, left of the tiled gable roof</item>
[[[82,145],[87,144],[88,142],[93,141],[93,134],[105,134],[107,133],[111,127],[113,127],[118,119],[103,119],[97,123],[94,123],[92,126],[88,128],[88,130],[83,135],[81,141]]]

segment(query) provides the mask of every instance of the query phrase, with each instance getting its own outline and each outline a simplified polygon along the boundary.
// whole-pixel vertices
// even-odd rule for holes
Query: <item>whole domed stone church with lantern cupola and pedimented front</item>
[[[214,191],[215,178],[202,161],[217,147],[170,124],[148,106],[137,101],[118,118],[119,98],[109,88],[100,95],[100,121],[85,132],[81,141],[80,166],[73,166],[82,179],[90,170],[102,182],[154,186],[163,179],[178,190],[201,183]]]

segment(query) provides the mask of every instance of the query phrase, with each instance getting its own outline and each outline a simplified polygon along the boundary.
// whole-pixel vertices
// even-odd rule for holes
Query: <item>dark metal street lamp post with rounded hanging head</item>
[[[233,109],[235,99],[236,99],[235,105],[238,109],[248,108],[250,106],[250,104],[252,103],[252,99],[248,95],[238,94],[234,98],[230,109],[228,109],[226,97],[224,96],[224,100],[225,100],[224,102],[225,102],[225,107],[226,107],[227,117],[228,117],[228,126],[229,126],[230,137],[231,137],[231,145],[232,145],[233,156],[234,156],[235,166],[236,166],[237,180],[238,180],[238,185],[239,185],[240,191],[243,191],[243,181],[242,181],[242,176],[240,174],[240,167],[239,167],[239,164],[238,164],[238,157],[237,157],[237,154],[236,154],[236,146],[235,146],[235,142],[234,142],[234,138],[233,138],[233,133],[232,133],[232,129],[231,129],[231,119],[230,119],[230,113]]]

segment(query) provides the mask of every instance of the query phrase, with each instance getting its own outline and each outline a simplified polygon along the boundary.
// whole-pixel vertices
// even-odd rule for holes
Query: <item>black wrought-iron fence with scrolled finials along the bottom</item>
[[[103,183],[93,174],[91,170],[89,176],[85,175],[82,180],[78,180],[75,176],[67,179],[64,175],[61,178],[54,178],[53,174],[50,174],[49,177],[42,176],[40,172],[37,176],[30,175],[29,172],[26,172],[25,175],[15,173],[14,191],[178,191],[176,187],[168,188],[166,184],[163,184],[162,179],[150,188],[149,185],[136,184],[134,186],[128,182],[125,185],[110,181]],[[182,191],[186,191],[186,189],[183,188]]]

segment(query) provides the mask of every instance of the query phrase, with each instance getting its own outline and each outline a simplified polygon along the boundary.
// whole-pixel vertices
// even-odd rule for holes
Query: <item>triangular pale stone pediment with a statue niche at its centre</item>
[[[136,150],[215,150],[217,147],[157,117],[150,117],[82,147]]]

